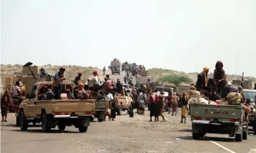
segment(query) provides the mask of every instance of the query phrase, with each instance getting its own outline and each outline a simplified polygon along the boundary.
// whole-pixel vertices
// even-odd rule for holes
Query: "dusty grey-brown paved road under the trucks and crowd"
[[[227,135],[207,134],[201,140],[192,140],[191,122],[179,123],[180,114],[164,113],[167,122],[149,122],[145,115],[121,115],[116,121],[92,122],[86,133],[74,127],[64,132],[56,129],[42,133],[40,125],[21,131],[13,126],[14,116],[9,114],[10,125],[1,127],[1,151],[4,153],[81,153],[97,152],[248,152],[256,148],[256,135],[249,132],[248,140],[241,143]],[[2,123],[1,123],[2,124]],[[176,140],[180,138],[181,140]]]

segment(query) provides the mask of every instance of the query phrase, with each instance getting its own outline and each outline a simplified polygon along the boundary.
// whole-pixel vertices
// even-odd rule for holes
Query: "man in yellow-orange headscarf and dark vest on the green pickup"
[[[203,68],[203,71],[197,75],[197,84],[195,84],[197,91],[203,90],[203,88],[208,85],[208,73],[209,68],[206,66]]]

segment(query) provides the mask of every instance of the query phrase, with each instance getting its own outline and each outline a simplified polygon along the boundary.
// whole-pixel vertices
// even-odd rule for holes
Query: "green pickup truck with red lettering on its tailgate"
[[[227,96],[231,85],[222,88],[220,96]],[[243,92],[243,88],[239,86]],[[223,98],[224,98],[223,97]],[[247,140],[248,124],[241,105],[190,105],[192,137],[198,139],[206,133],[228,133],[235,141]]]

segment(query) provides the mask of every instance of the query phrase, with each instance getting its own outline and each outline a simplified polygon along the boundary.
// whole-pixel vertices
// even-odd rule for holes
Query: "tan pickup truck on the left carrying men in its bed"
[[[66,99],[39,101],[39,90],[42,85],[49,86],[53,82],[36,82],[28,99],[21,102],[17,121],[20,129],[27,130],[29,123],[41,123],[42,131],[49,132],[58,125],[59,130],[66,126],[75,126],[80,132],[86,132],[90,118],[95,111],[95,99],[79,100]],[[62,89],[70,88],[73,91],[73,82],[62,83]],[[18,123],[17,123],[18,124]]]

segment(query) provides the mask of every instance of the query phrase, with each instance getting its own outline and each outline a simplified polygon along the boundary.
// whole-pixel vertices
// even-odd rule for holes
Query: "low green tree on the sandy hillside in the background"
[[[162,80],[163,82],[168,82],[168,83],[172,83],[175,84],[177,87],[179,86],[179,84],[181,84],[181,82],[184,83],[191,83],[192,79],[190,79],[187,76],[178,76],[176,74],[170,75],[170,76],[165,76],[162,77],[160,80]]]

